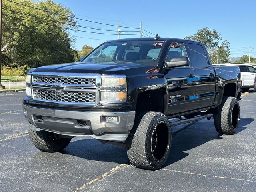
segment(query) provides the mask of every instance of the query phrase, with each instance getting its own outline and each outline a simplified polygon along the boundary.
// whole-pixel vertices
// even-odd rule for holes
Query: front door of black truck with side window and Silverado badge
[[[180,56],[188,56],[184,43],[172,42],[168,49],[166,61],[170,61],[172,57]],[[195,105],[196,79],[191,64],[190,66],[176,67],[168,70],[166,79],[169,92],[167,115],[193,110]]]

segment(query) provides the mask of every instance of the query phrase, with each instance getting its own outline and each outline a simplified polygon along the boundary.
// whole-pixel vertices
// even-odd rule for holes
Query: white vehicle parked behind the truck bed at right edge
[[[242,90],[247,92],[250,88],[254,88],[254,77],[256,75],[256,67],[249,64],[216,64],[225,66],[238,66],[241,71]]]

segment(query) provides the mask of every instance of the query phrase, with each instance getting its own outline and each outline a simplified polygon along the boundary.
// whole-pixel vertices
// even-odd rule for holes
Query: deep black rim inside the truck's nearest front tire
[[[161,162],[166,158],[166,152],[170,147],[170,130],[165,121],[160,121],[154,127],[151,135],[150,147],[151,153],[157,162]]]

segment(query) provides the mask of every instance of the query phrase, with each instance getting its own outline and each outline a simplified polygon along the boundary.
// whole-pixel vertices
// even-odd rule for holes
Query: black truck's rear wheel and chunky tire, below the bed
[[[235,97],[223,97],[217,112],[214,113],[214,125],[220,134],[236,133],[240,121],[240,106]]]

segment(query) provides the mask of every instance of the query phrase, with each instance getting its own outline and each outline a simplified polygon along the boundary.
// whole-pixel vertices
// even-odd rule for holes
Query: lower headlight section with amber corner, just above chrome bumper
[[[102,103],[126,102],[126,91],[101,91],[100,102]]]

